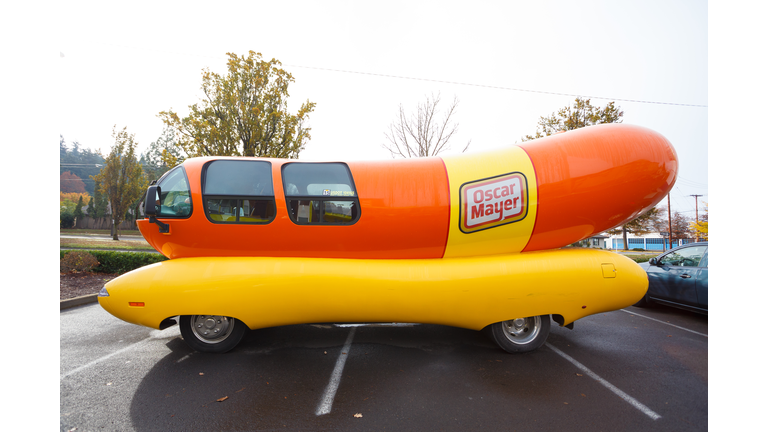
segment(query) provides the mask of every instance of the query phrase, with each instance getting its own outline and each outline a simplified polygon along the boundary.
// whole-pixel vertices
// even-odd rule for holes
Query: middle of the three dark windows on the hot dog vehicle
[[[214,223],[267,224],[275,219],[272,164],[216,160],[203,168],[205,215]]]

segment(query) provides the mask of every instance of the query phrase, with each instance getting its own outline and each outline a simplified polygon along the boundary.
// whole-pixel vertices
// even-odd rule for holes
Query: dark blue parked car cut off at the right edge
[[[708,243],[676,247],[640,264],[648,273],[648,292],[635,306],[659,303],[707,314]]]

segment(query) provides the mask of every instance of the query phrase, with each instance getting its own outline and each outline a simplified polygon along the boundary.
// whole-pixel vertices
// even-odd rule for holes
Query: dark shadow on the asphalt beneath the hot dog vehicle
[[[349,357],[333,410],[317,416],[350,330],[312,325],[254,330],[226,354],[194,352],[181,337],[173,338],[166,343],[171,352],[133,395],[133,427],[467,430],[456,427],[485,424],[494,429],[501,424],[489,422],[538,415],[508,410],[511,401],[546,407],[561,392],[549,379],[549,350],[511,355],[484,332],[448,326],[359,327],[350,352],[342,354]],[[554,399],[560,407],[559,397]]]

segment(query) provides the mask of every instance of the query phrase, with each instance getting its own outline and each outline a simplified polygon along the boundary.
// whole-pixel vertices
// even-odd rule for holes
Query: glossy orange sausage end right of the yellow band
[[[650,129],[606,124],[519,145],[536,169],[539,211],[524,252],[562,247],[642,215],[674,186],[677,153]]]

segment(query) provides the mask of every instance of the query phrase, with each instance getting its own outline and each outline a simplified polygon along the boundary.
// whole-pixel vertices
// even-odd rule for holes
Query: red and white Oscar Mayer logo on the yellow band
[[[464,233],[517,222],[528,214],[528,182],[522,173],[464,183],[459,191]]]

